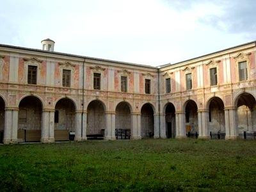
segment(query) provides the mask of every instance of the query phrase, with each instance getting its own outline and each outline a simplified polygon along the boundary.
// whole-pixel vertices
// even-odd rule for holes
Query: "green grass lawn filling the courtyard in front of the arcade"
[[[0,146],[0,191],[256,191],[256,141]]]

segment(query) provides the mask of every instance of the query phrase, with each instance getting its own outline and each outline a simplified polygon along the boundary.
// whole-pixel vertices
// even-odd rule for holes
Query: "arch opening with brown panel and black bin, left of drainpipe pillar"
[[[76,133],[76,103],[70,97],[61,97],[54,105],[54,140],[74,140]]]

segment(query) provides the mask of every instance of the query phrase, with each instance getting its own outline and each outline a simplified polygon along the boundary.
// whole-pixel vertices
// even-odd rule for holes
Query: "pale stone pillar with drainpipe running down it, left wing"
[[[87,121],[87,112],[82,110],[77,110],[75,119],[76,119],[76,132],[75,132],[75,141],[84,141],[86,138],[86,121]],[[83,132],[82,132],[82,115],[83,115]]]

